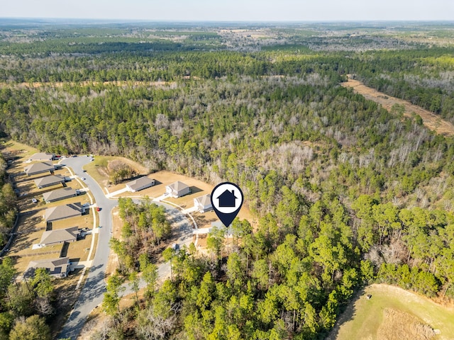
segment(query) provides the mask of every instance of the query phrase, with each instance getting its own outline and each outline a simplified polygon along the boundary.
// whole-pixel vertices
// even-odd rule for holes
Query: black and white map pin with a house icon
[[[243,205],[243,191],[231,182],[220,183],[211,191],[211,206],[223,225],[228,227]]]

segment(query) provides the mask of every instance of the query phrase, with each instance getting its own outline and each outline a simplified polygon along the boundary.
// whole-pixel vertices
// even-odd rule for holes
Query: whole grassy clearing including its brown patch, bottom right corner
[[[367,299],[367,295],[372,295]],[[392,285],[362,290],[326,340],[451,340],[454,308]]]

